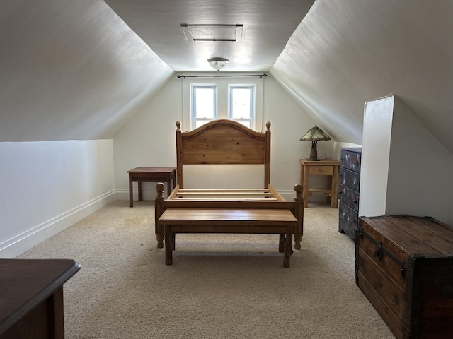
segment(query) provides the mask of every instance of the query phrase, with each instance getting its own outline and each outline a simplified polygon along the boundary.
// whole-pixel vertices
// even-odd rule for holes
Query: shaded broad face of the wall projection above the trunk
[[[406,210],[453,225],[452,153],[398,97],[394,110],[386,213]]]

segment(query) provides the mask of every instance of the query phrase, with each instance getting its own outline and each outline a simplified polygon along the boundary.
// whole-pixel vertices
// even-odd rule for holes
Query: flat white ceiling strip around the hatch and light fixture
[[[229,59],[224,71],[269,71],[314,0],[105,2],[175,71],[212,71],[212,57]],[[188,42],[181,24],[243,25],[243,36],[241,42]]]

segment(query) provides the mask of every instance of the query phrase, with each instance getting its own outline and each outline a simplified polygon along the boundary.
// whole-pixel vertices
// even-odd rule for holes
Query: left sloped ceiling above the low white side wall
[[[0,8],[0,141],[113,138],[173,73],[102,0]]]

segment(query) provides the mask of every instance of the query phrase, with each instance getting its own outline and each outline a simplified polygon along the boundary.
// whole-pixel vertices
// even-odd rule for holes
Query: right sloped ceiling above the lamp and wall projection
[[[452,1],[316,1],[271,73],[337,141],[393,93],[453,152],[452,42]]]

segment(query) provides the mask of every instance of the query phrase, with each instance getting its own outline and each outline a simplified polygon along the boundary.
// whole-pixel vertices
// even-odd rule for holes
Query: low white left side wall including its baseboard
[[[113,200],[113,141],[0,143],[0,257],[14,258]]]

